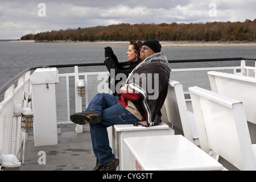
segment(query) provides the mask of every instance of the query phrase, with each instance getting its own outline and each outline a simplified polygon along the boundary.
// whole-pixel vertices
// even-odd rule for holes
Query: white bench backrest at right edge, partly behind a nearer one
[[[251,142],[256,143],[256,78],[213,71],[208,76],[213,92],[243,102]]]

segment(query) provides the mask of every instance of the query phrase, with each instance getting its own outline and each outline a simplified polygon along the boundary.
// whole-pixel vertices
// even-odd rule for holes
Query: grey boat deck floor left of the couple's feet
[[[33,135],[28,135],[26,155],[24,164],[20,166],[20,171],[92,171],[96,164],[96,158],[93,153],[90,132],[75,133],[75,127],[73,131],[70,126],[64,127],[66,129],[58,134],[58,144],[56,145],[35,147]],[[40,151],[45,152],[45,155]],[[45,158],[43,158],[44,156]],[[46,164],[39,164],[43,162]]]

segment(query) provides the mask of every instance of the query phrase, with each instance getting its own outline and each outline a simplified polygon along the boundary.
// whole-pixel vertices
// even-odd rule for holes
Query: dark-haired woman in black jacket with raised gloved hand
[[[105,47],[105,65],[108,69],[109,76],[109,88],[112,90],[114,96],[119,96],[120,87],[116,88],[117,84],[122,85],[122,82],[126,80],[115,80],[115,77],[119,73],[123,73],[126,75],[126,78],[129,76],[129,73],[133,71],[133,69],[141,63],[140,51],[142,42],[141,41],[131,41],[129,44],[128,51],[126,52],[127,59],[129,61],[128,65],[121,65],[118,62],[117,56],[114,55],[114,52],[111,47]],[[111,69],[114,69],[114,75],[111,74]],[[116,88],[116,89],[115,89]]]

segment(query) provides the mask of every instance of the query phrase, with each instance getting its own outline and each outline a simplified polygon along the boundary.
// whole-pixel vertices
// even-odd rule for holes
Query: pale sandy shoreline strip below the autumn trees
[[[98,41],[98,42],[75,42],[75,41],[55,41],[38,42],[35,40],[12,40],[11,43],[48,43],[48,44],[129,44],[129,41]],[[256,42],[196,42],[196,41],[160,41],[162,47],[196,47],[196,46],[256,46]]]

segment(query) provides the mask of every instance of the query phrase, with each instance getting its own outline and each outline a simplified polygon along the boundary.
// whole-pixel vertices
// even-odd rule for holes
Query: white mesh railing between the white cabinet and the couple
[[[85,96],[82,97],[82,109],[88,106],[97,93],[112,94],[108,88],[108,72],[79,73],[81,79],[85,80]],[[62,74],[59,83],[56,84],[57,123],[72,123],[69,115],[75,113],[75,80],[74,75]]]

